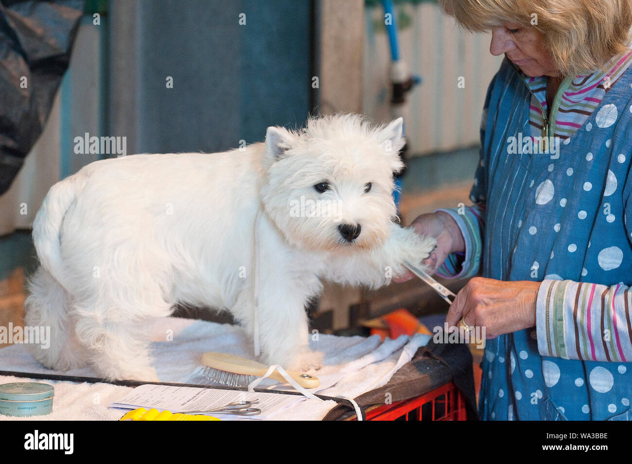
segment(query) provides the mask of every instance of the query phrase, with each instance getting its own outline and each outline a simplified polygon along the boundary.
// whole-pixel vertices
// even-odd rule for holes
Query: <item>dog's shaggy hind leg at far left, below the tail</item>
[[[73,331],[66,290],[43,267],[29,279],[28,290],[25,326],[45,327],[45,330],[50,327],[46,343],[40,340],[40,345],[27,345],[33,357],[49,369],[83,367],[85,359]]]

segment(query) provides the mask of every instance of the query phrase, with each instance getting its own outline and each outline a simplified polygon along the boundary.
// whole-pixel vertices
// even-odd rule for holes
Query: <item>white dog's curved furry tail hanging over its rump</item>
[[[59,233],[66,212],[75,202],[77,192],[82,190],[86,181],[86,176],[75,174],[53,185],[33,221],[33,243],[40,264],[66,290],[68,283],[61,259]]]

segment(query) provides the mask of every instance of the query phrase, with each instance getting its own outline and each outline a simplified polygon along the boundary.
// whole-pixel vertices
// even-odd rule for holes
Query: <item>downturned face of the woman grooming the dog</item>
[[[492,55],[503,53],[527,76],[559,76],[549,51],[544,46],[544,34],[532,27],[506,23],[492,29]]]

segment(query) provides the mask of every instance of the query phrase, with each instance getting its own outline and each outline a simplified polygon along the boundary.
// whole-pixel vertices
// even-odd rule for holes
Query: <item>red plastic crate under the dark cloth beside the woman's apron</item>
[[[370,410],[367,420],[467,420],[465,398],[449,382],[416,398]]]

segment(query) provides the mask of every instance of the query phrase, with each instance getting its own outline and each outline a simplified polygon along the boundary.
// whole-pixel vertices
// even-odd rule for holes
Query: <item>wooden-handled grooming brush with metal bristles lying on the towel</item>
[[[202,364],[206,366],[204,376],[216,384],[229,387],[246,387],[258,377],[263,377],[270,366],[225,353],[204,353]],[[316,388],[320,385],[318,377],[300,372],[286,371],[303,388]],[[279,371],[269,375],[270,379],[287,382]]]

